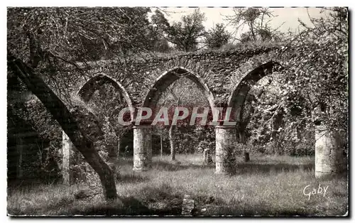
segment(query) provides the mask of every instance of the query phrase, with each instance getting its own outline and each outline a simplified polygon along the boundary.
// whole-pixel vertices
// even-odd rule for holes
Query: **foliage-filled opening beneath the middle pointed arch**
[[[188,115],[185,119],[172,124],[175,108],[187,109]],[[195,160],[199,164],[201,158],[196,159],[196,155],[214,144],[214,126],[208,125],[207,121],[212,118],[211,113],[207,114],[206,123],[202,123],[201,118],[193,118],[192,112],[197,109],[198,114],[203,114],[209,108],[209,102],[204,97],[204,93],[191,80],[182,77],[173,82],[158,100],[157,110],[166,108],[169,122],[158,122],[153,125],[153,154],[168,155],[170,160],[180,160],[184,156],[184,161]],[[180,113],[182,114],[182,113]],[[159,115],[158,115],[159,116]],[[165,114],[164,114],[165,116]],[[195,122],[191,122],[195,121]],[[158,137],[154,137],[158,136]],[[155,141],[154,141],[155,138]],[[159,141],[157,141],[159,139]],[[213,153],[214,148],[209,148]],[[201,154],[200,154],[201,155]],[[167,157],[164,157],[164,159]]]

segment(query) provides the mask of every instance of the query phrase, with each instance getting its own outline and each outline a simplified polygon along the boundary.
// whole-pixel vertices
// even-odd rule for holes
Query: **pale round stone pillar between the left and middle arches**
[[[133,170],[144,171],[151,168],[152,126],[133,126]]]

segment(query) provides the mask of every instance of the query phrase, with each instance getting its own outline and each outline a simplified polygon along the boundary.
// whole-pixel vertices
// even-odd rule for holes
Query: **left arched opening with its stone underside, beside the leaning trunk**
[[[99,120],[103,136],[95,144],[114,170],[119,158],[129,156],[133,151],[131,126],[119,122],[120,111],[126,107],[129,107],[129,113],[124,116],[125,121],[133,120],[134,109],[129,94],[119,81],[99,74],[86,82],[77,95]]]

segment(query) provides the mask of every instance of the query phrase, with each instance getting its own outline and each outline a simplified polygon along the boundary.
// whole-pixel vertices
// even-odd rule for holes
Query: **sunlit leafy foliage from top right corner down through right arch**
[[[284,69],[264,77],[249,92],[246,136],[262,153],[314,154],[315,124],[339,133],[346,150],[347,11],[324,13],[324,18],[311,18],[313,27],[301,21],[305,30],[294,35],[280,55]]]

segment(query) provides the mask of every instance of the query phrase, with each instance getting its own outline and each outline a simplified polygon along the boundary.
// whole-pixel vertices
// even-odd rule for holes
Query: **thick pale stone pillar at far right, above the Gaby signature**
[[[315,177],[321,178],[343,170],[341,138],[326,126],[315,126]]]

